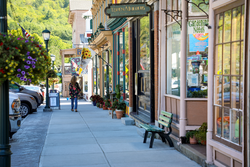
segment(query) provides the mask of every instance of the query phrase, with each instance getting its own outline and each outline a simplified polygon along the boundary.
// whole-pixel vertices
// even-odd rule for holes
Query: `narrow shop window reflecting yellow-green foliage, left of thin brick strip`
[[[125,28],[125,93],[126,100],[129,98],[129,39],[128,27]]]

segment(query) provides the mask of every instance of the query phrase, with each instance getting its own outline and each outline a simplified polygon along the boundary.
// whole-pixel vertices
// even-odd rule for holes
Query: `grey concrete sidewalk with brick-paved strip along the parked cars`
[[[28,115],[11,144],[13,167],[127,167],[199,165],[155,139],[137,133],[136,126],[125,126],[111,119],[108,110],[79,100],[79,112],[70,111],[70,101],[61,99],[61,110]]]

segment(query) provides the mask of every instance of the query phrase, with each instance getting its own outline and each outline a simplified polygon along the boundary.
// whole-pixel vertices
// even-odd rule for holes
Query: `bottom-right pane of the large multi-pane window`
[[[231,110],[231,119],[230,119],[230,126],[231,126],[231,136],[230,140],[234,143],[239,143],[239,112],[237,110]]]

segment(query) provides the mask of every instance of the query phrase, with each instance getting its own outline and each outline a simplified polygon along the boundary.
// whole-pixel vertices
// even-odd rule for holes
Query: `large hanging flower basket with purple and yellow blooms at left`
[[[44,80],[50,57],[33,38],[22,38],[0,33],[0,85],[5,80],[38,84]]]

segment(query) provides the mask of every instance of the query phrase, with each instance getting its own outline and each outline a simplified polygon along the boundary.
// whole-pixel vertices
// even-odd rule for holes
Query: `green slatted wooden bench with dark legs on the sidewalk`
[[[173,118],[172,113],[169,113],[166,111],[161,111],[161,115],[160,115],[160,118],[158,120],[158,123],[162,125],[162,128],[159,128],[159,127],[154,126],[154,125],[140,124],[140,126],[145,129],[143,143],[146,143],[147,138],[148,138],[148,132],[151,132],[152,136],[150,139],[149,148],[153,147],[154,138],[155,138],[156,133],[158,133],[160,135],[162,142],[166,143],[165,139],[167,139],[169,146],[173,147],[174,146],[173,142],[172,142],[171,138],[169,137],[169,135],[172,132],[172,128],[171,128],[172,118]],[[165,133],[164,127],[169,129],[168,133]]]

